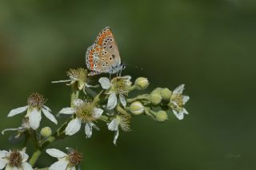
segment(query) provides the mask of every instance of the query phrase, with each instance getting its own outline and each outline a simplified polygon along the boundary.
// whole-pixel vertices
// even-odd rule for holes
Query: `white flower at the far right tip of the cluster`
[[[170,103],[168,104],[178,120],[182,120],[184,118],[184,114],[189,114],[183,107],[186,102],[190,100],[190,97],[182,95],[182,92],[185,89],[184,86],[185,85],[182,84],[174,89],[170,97]]]

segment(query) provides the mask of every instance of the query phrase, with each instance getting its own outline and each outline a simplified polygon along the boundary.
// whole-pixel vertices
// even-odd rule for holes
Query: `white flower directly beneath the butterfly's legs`
[[[130,76],[114,77],[111,82],[107,77],[101,77],[98,82],[102,85],[102,89],[107,89],[108,98],[106,108],[114,109],[118,104],[117,96],[123,107],[126,107],[126,97],[129,92]]]

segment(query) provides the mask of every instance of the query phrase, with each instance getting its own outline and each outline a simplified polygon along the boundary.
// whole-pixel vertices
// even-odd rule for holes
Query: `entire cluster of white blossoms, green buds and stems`
[[[119,130],[129,132],[130,122],[135,116],[145,114],[154,121],[163,122],[168,120],[170,110],[178,120],[182,120],[184,114],[188,114],[184,105],[190,97],[182,94],[185,85],[179,85],[173,91],[168,88],[156,88],[151,93],[130,98],[130,93],[134,90],[145,90],[150,85],[147,78],[138,77],[133,82],[130,76],[112,79],[100,77],[97,83],[94,82],[96,85],[89,85],[91,81],[86,69],[70,69],[67,76],[68,80],[52,81],[68,83],[66,85],[71,86],[72,91],[70,106],[64,106],[55,116],[45,105],[46,99],[39,93],[32,93],[27,98],[26,106],[12,109],[7,115],[14,117],[26,112],[18,128],[6,128],[2,130],[2,134],[17,131],[15,138],[25,136],[25,141],[31,136],[38,150],[31,156],[29,163],[29,156],[24,150],[0,151],[0,169],[32,169],[38,160],[38,154],[46,149],[46,153],[58,159],[50,165],[50,170],[74,170],[83,160],[82,153],[73,148],[67,148],[65,153],[57,148],[47,148],[48,145],[55,140],[75,135],[82,127],[86,138],[90,138],[93,128],[100,130],[98,124],[101,122],[108,130],[114,132],[113,143],[117,144]],[[58,125],[55,117],[64,117],[66,121],[54,132],[50,127],[42,127],[38,132],[42,113],[55,125]]]

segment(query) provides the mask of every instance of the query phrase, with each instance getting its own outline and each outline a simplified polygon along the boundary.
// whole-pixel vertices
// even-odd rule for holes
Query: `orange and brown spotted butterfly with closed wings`
[[[86,50],[86,66],[90,76],[100,73],[118,73],[125,69],[121,62],[118,45],[109,26],[103,29],[93,45]]]

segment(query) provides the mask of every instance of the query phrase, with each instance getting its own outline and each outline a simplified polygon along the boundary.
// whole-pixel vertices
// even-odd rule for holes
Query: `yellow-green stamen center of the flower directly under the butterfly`
[[[117,94],[128,95],[128,81],[126,77],[114,77],[112,80],[112,89]]]

